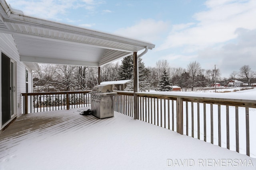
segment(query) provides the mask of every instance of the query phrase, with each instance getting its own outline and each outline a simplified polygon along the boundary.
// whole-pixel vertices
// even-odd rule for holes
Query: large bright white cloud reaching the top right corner
[[[193,52],[236,39],[239,27],[256,28],[255,0],[208,0],[205,5],[208,10],[194,14],[194,23],[172,25],[168,37],[156,50],[184,47],[184,51]]]

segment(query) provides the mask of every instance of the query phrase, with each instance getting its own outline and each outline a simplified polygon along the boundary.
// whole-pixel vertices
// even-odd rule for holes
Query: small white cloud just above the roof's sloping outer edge
[[[160,39],[169,27],[168,22],[156,21],[152,19],[140,20],[131,27],[120,28],[115,31],[116,34],[128,35],[130,38],[141,39],[153,42]]]

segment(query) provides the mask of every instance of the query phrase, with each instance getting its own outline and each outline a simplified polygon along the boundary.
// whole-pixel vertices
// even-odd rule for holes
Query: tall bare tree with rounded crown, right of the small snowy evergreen
[[[197,82],[197,75],[199,74],[201,70],[201,65],[197,61],[190,62],[187,66],[188,73],[190,75],[190,86],[191,90],[194,90],[194,86],[196,86]]]

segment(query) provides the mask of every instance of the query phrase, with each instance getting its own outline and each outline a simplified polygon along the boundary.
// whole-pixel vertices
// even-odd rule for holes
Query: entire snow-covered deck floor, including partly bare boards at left
[[[18,117],[0,134],[0,169],[256,169],[255,158],[117,112],[79,114],[86,109]]]

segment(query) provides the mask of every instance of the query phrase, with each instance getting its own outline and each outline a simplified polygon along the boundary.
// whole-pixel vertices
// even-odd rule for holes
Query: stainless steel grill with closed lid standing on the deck
[[[100,119],[114,116],[114,95],[112,85],[97,85],[92,89],[92,114]]]

